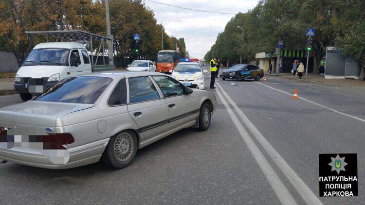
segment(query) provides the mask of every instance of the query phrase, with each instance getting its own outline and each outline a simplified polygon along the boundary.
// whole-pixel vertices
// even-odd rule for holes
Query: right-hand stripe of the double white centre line
[[[255,125],[246,117],[246,115],[242,112],[241,109],[237,106],[237,104],[229,97],[229,95],[224,91],[224,89],[217,84],[218,88],[223,93],[225,99],[232,105],[232,107],[236,110],[238,116],[242,119],[242,121],[246,124],[246,126],[250,129],[252,134],[256,137],[257,141],[261,144],[261,146],[265,149],[265,151],[269,154],[269,156],[273,159],[275,164],[279,167],[279,169],[284,173],[284,175],[288,178],[292,186],[297,190],[303,200],[309,205],[321,205],[322,202],[316,197],[316,195],[310,190],[310,188],[303,182],[303,180],[295,173],[294,170],[288,165],[288,163],[281,157],[279,153],[276,152],[273,146],[265,139],[264,136],[257,130]],[[218,90],[217,90],[218,91]]]

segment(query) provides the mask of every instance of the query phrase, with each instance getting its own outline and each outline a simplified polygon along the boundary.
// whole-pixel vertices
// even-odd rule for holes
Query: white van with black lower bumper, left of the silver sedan
[[[103,56],[98,55],[98,58],[100,61]],[[82,43],[40,43],[30,51],[23,65],[19,68],[15,76],[14,88],[20,94],[21,100],[28,101],[32,99],[33,95],[41,94],[44,89],[64,78],[91,73],[94,70],[114,69],[114,65],[105,65],[105,59],[103,59],[104,65],[92,65],[93,61]],[[42,85],[40,92],[33,91],[33,85],[29,86],[31,78],[40,80],[40,83],[37,83],[37,85]],[[33,80],[31,81],[32,84]]]

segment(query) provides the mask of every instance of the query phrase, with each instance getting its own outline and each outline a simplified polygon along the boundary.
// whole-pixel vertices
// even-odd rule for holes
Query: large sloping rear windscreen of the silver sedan
[[[48,88],[35,100],[93,104],[111,81],[111,78],[94,76],[66,78]]]

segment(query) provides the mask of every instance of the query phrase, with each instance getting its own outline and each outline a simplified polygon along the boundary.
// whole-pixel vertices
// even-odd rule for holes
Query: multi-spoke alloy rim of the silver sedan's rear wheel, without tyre
[[[119,161],[127,161],[133,152],[133,139],[128,133],[121,133],[114,142],[114,155]]]

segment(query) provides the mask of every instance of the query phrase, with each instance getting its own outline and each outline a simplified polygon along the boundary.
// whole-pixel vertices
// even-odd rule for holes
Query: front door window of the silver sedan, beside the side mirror
[[[184,85],[168,76],[152,76],[159,85],[164,97],[184,94]]]

